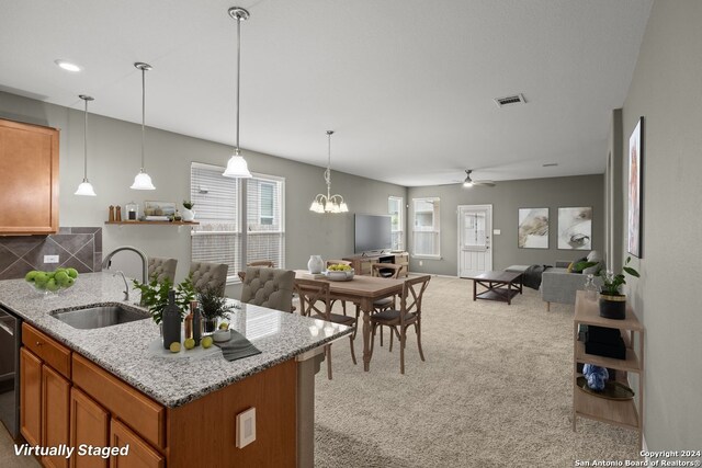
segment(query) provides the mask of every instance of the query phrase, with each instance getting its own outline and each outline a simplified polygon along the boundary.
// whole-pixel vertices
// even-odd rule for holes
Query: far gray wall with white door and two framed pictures
[[[502,270],[512,264],[554,264],[556,260],[575,260],[587,251],[558,250],[556,231],[558,207],[592,207],[592,248],[604,248],[603,175],[578,175],[498,182],[494,187],[463,189],[461,184],[408,189],[408,203],[426,196],[441,198],[441,260],[417,259],[410,255],[411,272],[455,276],[457,263],[457,206],[492,205],[492,267]],[[517,247],[518,209],[550,208],[548,249]],[[411,216],[411,212],[410,212]],[[408,218],[408,251],[411,253],[411,218]],[[419,261],[423,263],[419,265]]]

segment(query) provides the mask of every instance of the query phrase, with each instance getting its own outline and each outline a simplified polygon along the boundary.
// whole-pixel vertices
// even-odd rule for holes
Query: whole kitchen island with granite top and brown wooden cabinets
[[[123,290],[112,273],[81,275],[70,289],[47,297],[22,279],[0,282],[0,305],[24,320],[21,426],[27,442],[131,443],[131,455],[112,457],[111,466],[312,466],[314,374],[322,346],[351,329],[241,305],[227,321],[261,354],[227,362],[220,353],[154,353],[149,345],[159,329],[150,319],[79,330],[49,313],[88,305],[135,307],[138,293],[127,303]],[[237,415],[250,408],[256,441],[238,448]],[[137,463],[136,454],[144,453]],[[79,457],[76,466],[97,460],[102,458]],[[60,457],[43,463],[67,466]]]

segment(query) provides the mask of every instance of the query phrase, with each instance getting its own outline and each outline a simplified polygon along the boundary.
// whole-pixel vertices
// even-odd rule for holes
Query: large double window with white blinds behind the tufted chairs
[[[263,174],[230,179],[222,172],[222,167],[191,164],[190,197],[200,222],[192,231],[192,260],[226,263],[228,283],[256,260],[285,267],[285,180]]]

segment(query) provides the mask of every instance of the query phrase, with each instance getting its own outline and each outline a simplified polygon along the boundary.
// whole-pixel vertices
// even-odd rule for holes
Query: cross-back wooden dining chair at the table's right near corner
[[[424,275],[405,281],[403,294],[400,296],[399,310],[385,309],[371,316],[371,356],[373,356],[373,343],[375,342],[375,331],[378,327],[390,329],[390,351],[393,351],[393,334],[399,340],[399,373],[405,374],[405,345],[407,343],[407,329],[415,326],[417,333],[417,347],[419,357],[424,361],[424,353],[421,350],[421,298],[427,289],[431,276]]]

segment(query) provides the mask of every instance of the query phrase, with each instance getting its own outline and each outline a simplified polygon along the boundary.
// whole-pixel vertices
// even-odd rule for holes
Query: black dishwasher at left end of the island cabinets
[[[0,306],[0,421],[20,436],[20,345],[22,320]]]

